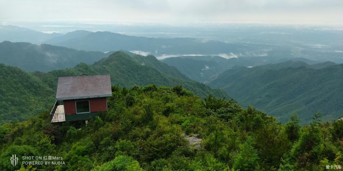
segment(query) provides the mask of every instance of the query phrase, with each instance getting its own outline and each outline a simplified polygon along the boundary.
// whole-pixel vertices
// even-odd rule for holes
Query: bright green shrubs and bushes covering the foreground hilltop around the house
[[[343,163],[343,120],[281,124],[252,106],[180,86],[112,86],[108,112],[51,124],[49,110],[0,126],[0,168],[12,170],[326,170]],[[194,149],[181,133],[198,134]],[[11,166],[12,154],[19,165]],[[20,166],[22,156],[57,156],[65,165]],[[58,161],[58,160],[54,160]]]

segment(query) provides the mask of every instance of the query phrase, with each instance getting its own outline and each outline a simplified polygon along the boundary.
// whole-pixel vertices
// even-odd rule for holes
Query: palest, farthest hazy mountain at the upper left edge
[[[0,26],[0,42],[11,41],[39,43],[62,35],[63,34],[59,34],[56,32],[47,34],[32,29],[12,25]]]

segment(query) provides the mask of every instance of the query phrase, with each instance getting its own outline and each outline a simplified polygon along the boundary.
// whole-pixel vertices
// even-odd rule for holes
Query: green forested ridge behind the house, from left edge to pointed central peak
[[[134,58],[139,57],[146,58],[145,56]],[[2,103],[0,124],[10,120],[25,120],[51,106],[55,101],[58,77],[64,76],[110,74],[112,84],[124,87],[148,84],[171,87],[182,85],[202,97],[213,94],[216,97],[229,98],[223,90],[211,89],[205,84],[191,81],[180,74],[176,68],[167,66],[156,58],[153,59],[152,56],[144,59],[146,63],[153,64],[151,66],[142,65],[134,58],[118,51],[93,65],[81,63],[74,68],[53,70],[48,73],[40,71],[27,73],[19,68],[2,64],[0,65],[2,71],[0,82],[4,85],[0,88],[0,102]]]

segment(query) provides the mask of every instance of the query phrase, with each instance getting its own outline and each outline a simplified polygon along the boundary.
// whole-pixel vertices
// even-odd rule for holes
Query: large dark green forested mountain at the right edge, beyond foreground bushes
[[[330,66],[331,65],[331,66]],[[314,69],[317,68],[317,69]],[[343,64],[308,65],[284,62],[252,68],[228,69],[208,83],[221,88],[239,104],[251,104],[286,122],[297,113],[303,123],[318,110],[324,119],[343,113]]]

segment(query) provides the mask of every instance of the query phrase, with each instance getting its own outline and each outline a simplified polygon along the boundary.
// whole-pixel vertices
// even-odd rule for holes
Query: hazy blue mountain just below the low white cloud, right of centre
[[[271,54],[272,55],[272,54]],[[276,55],[276,54],[274,54]],[[283,57],[283,56],[282,56]],[[223,58],[215,55],[205,56],[177,56],[168,57],[162,60],[162,62],[176,67],[181,73],[187,77],[199,81],[208,82],[215,78],[218,74],[223,73],[226,69],[245,66],[253,67],[259,65],[265,65],[270,63],[280,63],[285,61],[303,61],[308,64],[317,64],[321,61],[312,61],[306,58],[291,57],[282,58],[280,56],[255,56],[255,57],[233,57]]]

